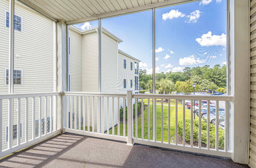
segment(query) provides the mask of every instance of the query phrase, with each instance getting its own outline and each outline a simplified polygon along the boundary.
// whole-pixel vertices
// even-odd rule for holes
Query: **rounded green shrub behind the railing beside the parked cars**
[[[183,137],[183,121],[178,121],[178,134]],[[190,141],[190,119],[185,121],[185,140]],[[193,121],[193,140],[198,142],[198,120]],[[201,122],[201,142],[207,143],[207,124]],[[215,125],[210,123],[210,147],[215,148]],[[224,130],[219,128],[219,148],[224,149]]]

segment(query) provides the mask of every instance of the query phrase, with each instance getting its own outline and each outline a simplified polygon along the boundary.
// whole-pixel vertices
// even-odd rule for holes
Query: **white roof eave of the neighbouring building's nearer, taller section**
[[[74,31],[76,31],[77,33],[80,34],[89,34],[89,33],[93,33],[93,32],[98,32],[98,26],[90,28],[90,29],[86,29],[86,30],[80,30],[75,26],[69,26],[69,29],[72,29]],[[97,29],[97,31],[96,31]],[[102,33],[106,34],[107,36],[113,38],[114,40],[116,40],[117,42],[122,42],[122,40],[120,38],[118,38],[117,36],[115,36],[115,34],[111,33],[110,31],[108,31],[106,28],[102,27]]]

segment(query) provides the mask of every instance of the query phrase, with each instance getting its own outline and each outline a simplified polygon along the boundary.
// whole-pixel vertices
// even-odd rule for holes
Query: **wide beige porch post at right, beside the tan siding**
[[[247,164],[250,123],[250,7],[248,0],[229,0],[229,150],[236,163]]]

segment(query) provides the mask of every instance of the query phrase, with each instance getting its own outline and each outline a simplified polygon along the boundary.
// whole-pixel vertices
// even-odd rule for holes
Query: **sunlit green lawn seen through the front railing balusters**
[[[175,101],[174,101],[175,103]],[[170,106],[170,133],[171,137],[175,135],[175,106]],[[161,141],[161,106],[156,106],[156,139]],[[148,107],[144,110],[144,139],[148,138]],[[178,121],[183,119],[183,108],[178,107]],[[190,111],[186,108],[186,119],[190,119]],[[198,120],[198,117],[196,116]],[[127,136],[127,123],[126,123]],[[150,105],[150,139],[152,140],[152,105]],[[141,138],[141,116],[138,118],[138,138]],[[112,134],[112,130],[109,130]],[[115,126],[115,135],[117,135],[117,126]],[[123,135],[123,124],[120,124],[120,135]],[[135,121],[134,121],[134,137],[135,137]],[[168,106],[163,106],[163,141],[168,142]]]

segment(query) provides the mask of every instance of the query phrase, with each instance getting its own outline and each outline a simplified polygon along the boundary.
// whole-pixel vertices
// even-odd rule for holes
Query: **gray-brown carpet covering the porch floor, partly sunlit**
[[[4,168],[247,168],[223,157],[194,155],[75,134],[57,135],[0,161]]]

